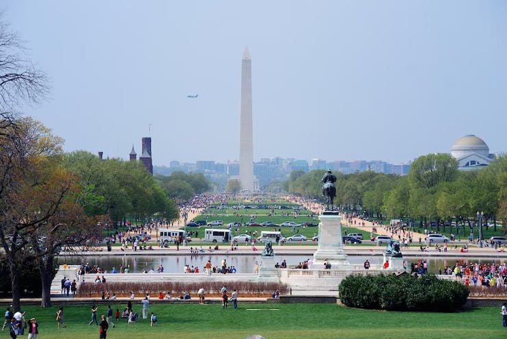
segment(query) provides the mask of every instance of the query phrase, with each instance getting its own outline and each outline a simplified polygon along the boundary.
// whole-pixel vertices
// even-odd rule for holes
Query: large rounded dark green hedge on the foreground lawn
[[[373,310],[452,312],[469,296],[467,286],[434,275],[351,275],[338,290],[345,305]]]

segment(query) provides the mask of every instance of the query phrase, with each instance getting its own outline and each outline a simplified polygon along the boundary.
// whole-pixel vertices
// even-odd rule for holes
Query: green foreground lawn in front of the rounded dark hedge
[[[503,338],[500,305],[480,307],[456,313],[386,312],[358,310],[336,304],[315,303],[241,303],[234,310],[232,303],[223,309],[220,303],[206,305],[179,303],[150,305],[149,313],[158,316],[158,327],[150,327],[149,319],[139,319],[127,327],[120,319],[108,330],[111,338],[213,338],[244,339],[260,334],[266,339],[293,338]],[[120,312],[125,303],[112,303]],[[141,314],[141,305],[134,303],[134,312]],[[57,329],[58,307],[23,307],[26,318],[39,323],[40,339],[99,338],[97,325],[88,325],[90,307],[64,306],[66,328]],[[106,305],[99,305],[100,314]],[[8,338],[7,331],[0,334]],[[25,332],[25,336],[27,336]],[[18,337],[20,338],[20,337]],[[22,336],[21,338],[26,338]]]

